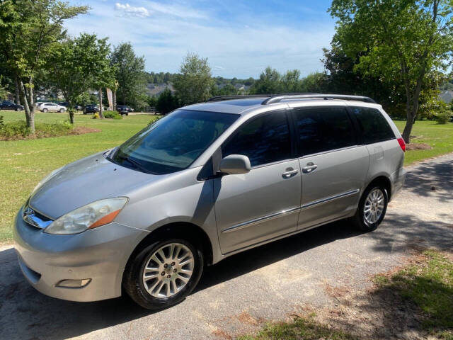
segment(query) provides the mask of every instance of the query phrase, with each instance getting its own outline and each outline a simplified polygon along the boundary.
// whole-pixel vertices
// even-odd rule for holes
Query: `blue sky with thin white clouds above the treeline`
[[[207,57],[214,76],[258,77],[267,66],[302,76],[322,71],[335,22],[331,1],[72,0],[91,11],[67,21],[69,34],[131,42],[151,72],[178,72],[187,52]]]

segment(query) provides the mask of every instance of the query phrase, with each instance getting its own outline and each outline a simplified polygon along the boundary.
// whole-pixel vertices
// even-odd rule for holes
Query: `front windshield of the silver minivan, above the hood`
[[[239,115],[177,110],[134,135],[110,155],[122,166],[151,174],[187,168]]]

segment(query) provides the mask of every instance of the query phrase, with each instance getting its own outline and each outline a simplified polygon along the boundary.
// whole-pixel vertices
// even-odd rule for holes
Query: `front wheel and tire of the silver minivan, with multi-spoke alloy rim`
[[[203,271],[202,251],[185,239],[162,239],[132,256],[123,286],[132,300],[148,310],[161,310],[184,300]]]

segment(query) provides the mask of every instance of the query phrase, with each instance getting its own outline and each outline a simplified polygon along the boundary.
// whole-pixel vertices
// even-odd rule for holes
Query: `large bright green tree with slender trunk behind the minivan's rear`
[[[452,1],[333,0],[329,11],[338,18],[333,41],[349,57],[363,52],[356,69],[384,81],[401,79],[406,96],[403,138],[410,142],[423,84],[452,57]]]

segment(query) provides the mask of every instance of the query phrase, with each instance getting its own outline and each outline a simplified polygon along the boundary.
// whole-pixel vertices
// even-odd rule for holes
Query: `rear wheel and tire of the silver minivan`
[[[364,232],[372,232],[384,220],[388,203],[389,196],[384,186],[369,186],[360,198],[352,223]]]

